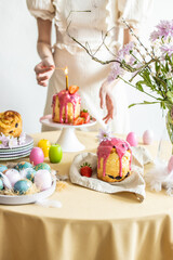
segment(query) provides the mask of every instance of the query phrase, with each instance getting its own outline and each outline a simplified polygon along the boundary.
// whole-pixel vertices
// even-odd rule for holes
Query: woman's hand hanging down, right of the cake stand
[[[106,106],[107,109],[107,115],[103,118],[105,123],[108,123],[114,118],[115,105],[111,98],[114,87],[115,81],[109,83],[105,80],[99,89],[101,108]]]

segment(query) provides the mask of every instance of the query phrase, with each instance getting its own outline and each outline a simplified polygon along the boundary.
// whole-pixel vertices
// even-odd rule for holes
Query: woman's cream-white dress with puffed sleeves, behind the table
[[[93,61],[85,50],[71,40],[69,32],[83,46],[89,46],[94,53],[102,43],[102,34],[109,31],[106,46],[116,50],[122,44],[123,24],[125,18],[133,27],[145,20],[150,5],[149,0],[27,0],[29,11],[35,17],[53,20],[56,30],[54,44],[54,61],[56,67],[68,67],[69,84],[79,86],[81,106],[97,119],[97,128],[105,127],[103,117],[106,110],[99,107],[99,88],[107,78],[110,66]],[[81,12],[90,11],[90,12]],[[96,53],[102,61],[112,58],[110,52],[102,47]],[[56,69],[49,82],[44,115],[51,114],[52,95],[65,88],[65,75]],[[109,123],[111,130],[118,133],[129,131],[128,101],[124,84],[120,81],[112,91],[116,114]],[[48,130],[48,129],[43,129]]]

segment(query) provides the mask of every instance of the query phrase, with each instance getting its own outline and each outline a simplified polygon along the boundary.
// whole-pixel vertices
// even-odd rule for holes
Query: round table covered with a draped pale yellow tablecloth
[[[77,135],[95,153],[96,133]],[[42,138],[53,143],[57,131],[32,136],[35,145]],[[157,145],[148,146],[154,156]],[[76,154],[64,153],[62,162],[51,167],[68,173]],[[146,199],[138,203],[133,194],[103,194],[69,182],[51,199],[63,207],[0,206],[0,260],[173,259],[173,198],[164,191],[147,190]]]

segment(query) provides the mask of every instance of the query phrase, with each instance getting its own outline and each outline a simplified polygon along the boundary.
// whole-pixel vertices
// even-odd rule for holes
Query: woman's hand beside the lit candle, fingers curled
[[[44,57],[39,64],[36,65],[36,78],[40,86],[46,87],[49,79],[52,77],[55,65],[51,57]]]

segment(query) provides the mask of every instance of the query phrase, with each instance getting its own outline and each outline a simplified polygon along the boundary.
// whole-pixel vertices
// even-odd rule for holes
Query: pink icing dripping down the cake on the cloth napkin
[[[116,148],[116,152],[119,156],[120,160],[120,169],[119,176],[122,177],[122,157],[125,152],[129,150],[131,152],[130,145],[128,142],[121,139],[112,138],[111,140],[103,141],[97,148],[97,157],[98,157],[98,169],[101,168],[101,158],[103,158],[103,176],[106,174],[106,161],[110,155],[112,148]],[[131,160],[132,160],[132,152],[130,159],[130,170],[131,170]]]

